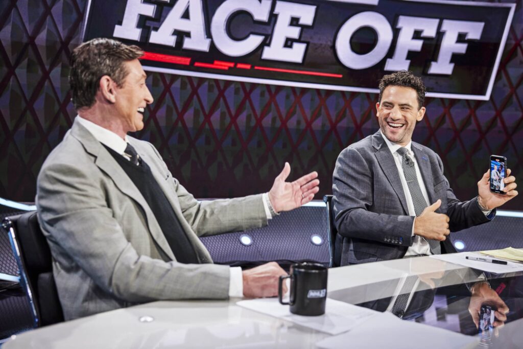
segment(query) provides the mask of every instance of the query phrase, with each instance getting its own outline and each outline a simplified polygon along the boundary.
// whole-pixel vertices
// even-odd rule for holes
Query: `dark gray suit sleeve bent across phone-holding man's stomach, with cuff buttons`
[[[414,217],[378,213],[374,207],[373,172],[357,149],[339,154],[334,168],[335,225],[346,238],[374,240],[386,244],[412,245]]]

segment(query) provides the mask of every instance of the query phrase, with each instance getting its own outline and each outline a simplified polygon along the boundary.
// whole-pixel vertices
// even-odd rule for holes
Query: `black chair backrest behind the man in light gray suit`
[[[7,217],[2,226],[9,233],[20,269],[20,284],[29,298],[35,327],[64,321],[53,277],[51,251],[40,230],[37,212]]]

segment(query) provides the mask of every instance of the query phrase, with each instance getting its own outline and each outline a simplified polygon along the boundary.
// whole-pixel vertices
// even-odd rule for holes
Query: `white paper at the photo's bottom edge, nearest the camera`
[[[389,312],[371,317],[349,332],[327,337],[316,343],[322,349],[386,348],[386,349],[458,349],[474,348],[479,337],[468,336],[401,320]]]

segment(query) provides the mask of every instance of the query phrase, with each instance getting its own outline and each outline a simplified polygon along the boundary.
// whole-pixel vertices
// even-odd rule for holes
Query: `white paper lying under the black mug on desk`
[[[292,314],[289,306],[281,305],[277,298],[242,300],[236,305],[329,334],[346,332],[361,322],[381,314],[378,311],[329,298],[325,303],[325,314],[320,316]]]

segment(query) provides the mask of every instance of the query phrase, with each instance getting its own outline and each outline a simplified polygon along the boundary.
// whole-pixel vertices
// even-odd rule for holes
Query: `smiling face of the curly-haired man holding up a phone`
[[[388,140],[402,147],[411,141],[416,122],[425,115],[425,107],[418,110],[415,89],[404,86],[385,87],[376,110],[381,132]]]

